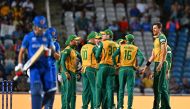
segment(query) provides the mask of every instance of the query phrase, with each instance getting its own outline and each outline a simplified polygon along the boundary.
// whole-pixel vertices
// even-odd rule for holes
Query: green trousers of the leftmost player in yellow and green
[[[75,109],[76,102],[76,74],[69,72],[71,79],[66,78],[62,73],[63,83],[61,85],[62,109]]]

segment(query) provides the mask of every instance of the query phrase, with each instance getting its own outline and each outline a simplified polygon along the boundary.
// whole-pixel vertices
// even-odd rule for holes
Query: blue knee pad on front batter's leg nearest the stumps
[[[33,83],[31,85],[31,94],[32,95],[41,95],[42,94],[42,84],[40,82]]]

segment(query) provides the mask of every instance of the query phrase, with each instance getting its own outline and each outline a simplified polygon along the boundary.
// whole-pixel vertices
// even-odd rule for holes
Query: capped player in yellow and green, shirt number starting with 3
[[[117,49],[115,42],[112,41],[113,32],[110,29],[105,30],[106,34],[102,34],[102,42],[96,50],[96,59],[100,60],[99,69],[96,77],[96,108],[100,108],[103,102],[103,91],[107,94],[107,109],[113,106],[113,79],[115,68],[112,62],[113,52]],[[103,105],[103,103],[102,103]]]

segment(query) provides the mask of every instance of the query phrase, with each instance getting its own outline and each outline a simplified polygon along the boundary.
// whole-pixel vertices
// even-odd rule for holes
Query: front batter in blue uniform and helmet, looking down
[[[48,35],[43,34],[45,28],[47,27],[46,24],[47,22],[44,16],[36,16],[34,18],[33,31],[25,35],[18,56],[17,68],[22,70],[22,58],[25,50],[28,52],[28,58],[31,58],[41,45],[45,45],[49,48],[46,50],[46,54],[40,56],[29,69],[32,109],[42,108],[42,92],[45,92],[45,95],[47,95],[46,99],[49,101],[54,96],[54,93],[51,92],[56,90],[54,78],[50,71],[49,57],[51,55],[53,55],[56,59],[58,59],[58,57],[54,52],[51,38]],[[52,53],[50,51],[52,51]],[[52,107],[50,106],[48,109],[52,109]]]

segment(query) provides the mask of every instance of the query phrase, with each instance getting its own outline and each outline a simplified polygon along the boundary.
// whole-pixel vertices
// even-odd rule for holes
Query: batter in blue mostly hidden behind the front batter
[[[53,46],[55,47],[55,52],[58,55],[58,58],[60,58],[60,45],[59,45],[59,42],[57,41],[57,31],[56,31],[56,29],[53,28],[53,27],[48,28],[46,30],[45,34],[50,35],[50,37],[52,38]],[[54,87],[56,88],[56,82],[57,82],[56,59],[53,56],[51,56],[49,62],[50,62],[50,71],[52,73],[53,81],[55,82]],[[56,92],[56,90],[52,90],[49,93],[52,93],[52,94],[55,95],[55,92]],[[45,99],[45,98],[48,98],[48,95],[47,94],[44,95],[43,104],[46,104],[45,109],[49,109],[50,107],[51,108],[53,107],[54,97],[55,96],[51,96],[51,97],[52,98],[49,99],[49,101],[47,101],[47,99]]]

